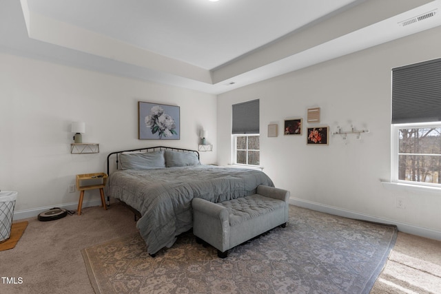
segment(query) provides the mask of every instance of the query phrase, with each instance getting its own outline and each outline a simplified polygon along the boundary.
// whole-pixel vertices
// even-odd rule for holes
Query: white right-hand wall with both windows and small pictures
[[[261,165],[291,203],[342,216],[398,224],[402,231],[441,240],[441,193],[389,190],[391,171],[391,68],[441,57],[435,28],[340,59],[218,96],[218,163],[230,163],[232,104],[260,98]],[[330,136],[328,146],[306,145],[307,109],[321,122],[369,129],[361,140]],[[288,118],[303,118],[302,136],[284,136]],[[267,137],[278,123],[279,136]],[[396,208],[396,198],[405,209]]]

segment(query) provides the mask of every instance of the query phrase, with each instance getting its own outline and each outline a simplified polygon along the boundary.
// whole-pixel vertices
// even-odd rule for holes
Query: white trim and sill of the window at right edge
[[[402,123],[391,125],[391,181],[382,181],[382,185],[391,190],[424,191],[440,193],[441,184],[434,185],[424,182],[398,180],[398,129],[403,127],[440,127],[441,122],[431,123]]]

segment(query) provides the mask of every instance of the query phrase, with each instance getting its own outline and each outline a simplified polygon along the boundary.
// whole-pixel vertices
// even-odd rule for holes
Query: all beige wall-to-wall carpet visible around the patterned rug
[[[37,217],[27,221],[28,227],[17,246],[0,251],[1,276],[15,277],[16,281],[22,277],[23,282],[0,283],[0,293],[94,294],[81,249],[130,237],[137,232],[133,214],[119,204],[112,204],[107,211],[102,207],[86,208],[81,216],[66,216],[51,222],[39,222]],[[401,256],[396,262],[409,270],[404,271],[403,266],[392,266],[388,262],[371,293],[440,293],[440,286],[437,286],[441,281],[440,241],[398,232],[391,258],[396,253]],[[422,284],[420,290],[425,287],[431,290],[410,292],[406,289],[406,284],[416,282]],[[404,286],[398,288],[396,284]]]

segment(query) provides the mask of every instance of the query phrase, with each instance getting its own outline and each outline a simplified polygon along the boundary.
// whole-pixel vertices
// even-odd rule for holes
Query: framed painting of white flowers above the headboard
[[[140,140],[179,140],[180,108],[173,105],[138,102]]]

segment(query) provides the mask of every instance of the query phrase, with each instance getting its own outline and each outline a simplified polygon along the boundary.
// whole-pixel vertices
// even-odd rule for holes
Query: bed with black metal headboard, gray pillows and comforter
[[[107,174],[107,197],[139,212],[136,227],[153,256],[192,229],[194,197],[222,202],[274,187],[263,171],[202,165],[198,151],[163,146],[112,152]]]

